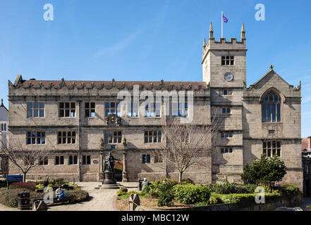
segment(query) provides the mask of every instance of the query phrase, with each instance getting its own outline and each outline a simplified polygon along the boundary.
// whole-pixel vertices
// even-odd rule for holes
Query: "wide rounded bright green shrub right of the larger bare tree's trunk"
[[[210,189],[207,186],[198,186],[193,184],[178,184],[174,187],[176,200],[187,205],[208,202]]]

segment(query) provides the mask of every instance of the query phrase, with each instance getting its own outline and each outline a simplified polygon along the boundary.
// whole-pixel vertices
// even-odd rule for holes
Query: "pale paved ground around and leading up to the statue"
[[[87,191],[90,199],[83,203],[49,206],[48,211],[115,211],[116,191],[118,189],[95,189],[100,182],[80,182],[78,186]],[[138,182],[120,183],[129,191],[138,191]],[[16,211],[18,209],[0,204],[0,211]]]

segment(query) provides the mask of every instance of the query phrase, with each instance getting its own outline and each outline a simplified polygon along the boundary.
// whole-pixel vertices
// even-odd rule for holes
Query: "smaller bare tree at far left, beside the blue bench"
[[[3,153],[13,165],[16,165],[23,173],[23,180],[26,181],[26,175],[29,170],[38,165],[42,165],[42,162],[47,159],[49,150],[44,147],[36,150],[25,150],[23,145],[15,141],[13,145],[8,143],[6,139],[0,139],[0,153]]]

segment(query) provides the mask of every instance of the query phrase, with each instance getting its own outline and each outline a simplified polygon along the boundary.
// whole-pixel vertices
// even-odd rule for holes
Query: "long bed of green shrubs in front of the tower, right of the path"
[[[299,189],[291,184],[284,184],[274,188],[262,187],[267,200],[273,200],[286,195],[298,195],[300,193]],[[171,179],[161,179],[143,188],[139,196],[141,205],[152,204],[152,207],[159,209],[177,206],[187,207],[187,205],[188,207],[204,207],[219,204],[255,203],[255,197],[258,195],[258,193],[255,193],[256,188],[257,186],[252,184],[226,183],[201,186],[191,182],[180,184]],[[122,200],[123,202],[123,207],[119,207],[121,210],[127,209],[124,204],[128,204],[129,195],[123,192],[125,190],[126,188],[123,188],[123,190],[118,191],[120,196],[117,197],[117,200]],[[154,205],[154,202],[157,202],[157,205]]]

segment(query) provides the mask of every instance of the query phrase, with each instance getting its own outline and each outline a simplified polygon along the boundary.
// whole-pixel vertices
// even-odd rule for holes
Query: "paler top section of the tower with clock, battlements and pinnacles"
[[[214,39],[212,23],[209,27],[209,40],[204,40],[202,53],[203,81],[211,88],[243,88],[246,83],[246,39],[244,24],[240,41],[231,38],[226,41]]]

